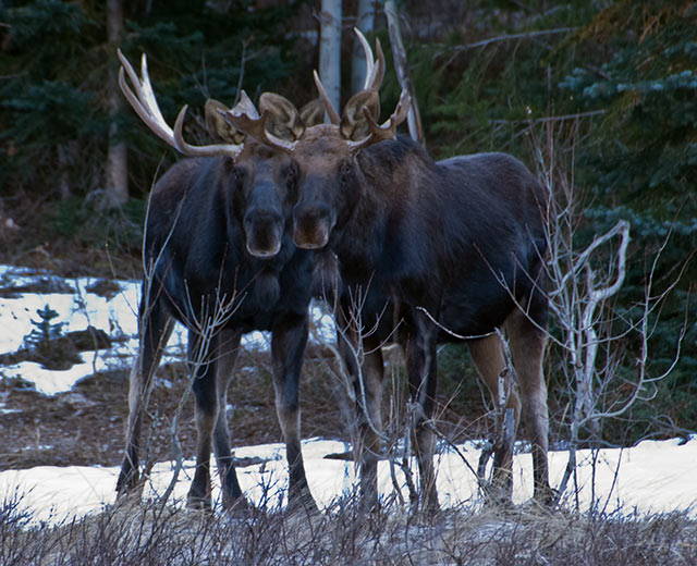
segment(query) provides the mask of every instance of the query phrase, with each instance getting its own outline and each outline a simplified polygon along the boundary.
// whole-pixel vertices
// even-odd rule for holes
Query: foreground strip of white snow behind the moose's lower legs
[[[354,466],[335,459],[325,459],[330,453],[343,452],[345,446],[335,441],[313,439],[303,443],[303,455],[310,491],[320,508],[335,497],[351,493],[355,488]],[[460,446],[470,466],[476,468],[479,451],[474,445]],[[464,452],[463,452],[464,451]],[[247,446],[235,450],[237,457],[259,457],[264,464],[237,470],[245,496],[255,505],[276,507],[283,504],[288,473],[282,444]],[[550,453],[552,484],[558,484],[566,465],[565,452]],[[697,512],[697,438],[686,443],[678,440],[645,441],[625,450],[602,450],[596,455],[588,451],[578,454],[577,483],[582,509],[591,504],[612,513],[659,513],[670,510]],[[595,465],[594,465],[595,462]],[[186,462],[172,501],[182,505],[193,472],[193,462]],[[595,469],[594,469],[595,468]],[[68,517],[98,512],[114,502],[118,468],[99,466],[71,466],[58,468],[41,466],[25,470],[0,472],[0,494],[4,497],[23,494],[21,508],[32,512],[34,521],[56,522]],[[155,466],[146,497],[162,494],[173,473],[172,463]],[[398,470],[402,482],[402,475]],[[533,495],[533,463],[529,454],[519,454],[514,460],[515,503]],[[379,465],[380,494],[393,493],[389,464]],[[475,504],[477,485],[473,473],[460,455],[444,452],[438,456],[438,493],[443,507]],[[402,482],[403,483],[403,482]],[[402,490],[408,501],[406,490]],[[218,485],[213,497],[219,497]],[[570,506],[574,502],[566,503]]]

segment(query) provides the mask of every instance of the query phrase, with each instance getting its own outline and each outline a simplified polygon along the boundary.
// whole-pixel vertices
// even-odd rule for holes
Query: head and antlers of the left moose
[[[276,256],[281,249],[286,219],[291,214],[286,189],[294,169],[288,148],[304,132],[301,114],[283,122],[270,121],[273,133],[269,133],[269,136],[274,143],[267,144],[248,134],[267,122],[267,108],[273,107],[277,113],[282,113],[285,99],[271,93],[264,94],[259,101],[261,116],[244,91],[241,93],[240,102],[232,109],[210,99],[206,103],[206,126],[209,134],[220,143],[192,145],[183,136],[188,107],[182,108],[173,128],[167,124],[152,91],[145,54],[140,64],[140,77],[121,51],[119,59],[123,65],[119,84],[143,122],[180,153],[198,158],[222,158],[219,168],[220,176],[228,185],[225,212],[233,217],[229,225],[243,227],[245,247],[252,256]],[[126,83],[126,74],[134,89]],[[304,109],[305,113],[310,111],[309,106]],[[292,122],[293,119],[295,123]]]

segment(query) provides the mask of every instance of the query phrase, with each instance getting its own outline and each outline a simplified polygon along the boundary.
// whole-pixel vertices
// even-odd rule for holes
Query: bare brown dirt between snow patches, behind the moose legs
[[[346,421],[351,413],[332,369],[334,362],[327,350],[308,347],[301,384],[303,438],[350,440]],[[386,415],[390,414],[389,404],[399,396],[395,390],[403,386],[401,378],[388,377]],[[151,419],[144,441],[148,457],[156,462],[171,458],[171,422],[187,389],[183,364],[161,366],[157,371],[149,405]],[[0,380],[0,469],[119,465],[124,446],[127,393],[129,370],[125,368],[90,376],[72,391],[54,396],[39,394],[21,380]],[[481,433],[473,430],[479,428],[476,421],[465,427],[462,399],[453,405],[452,396],[452,392],[444,391],[440,398],[438,411],[443,430],[455,440],[470,435],[463,431]],[[478,395],[469,397],[470,405],[479,403]],[[268,354],[241,354],[228,403],[233,447],[282,442]],[[470,409],[473,417],[481,417],[482,407]],[[193,456],[195,446],[193,415],[193,398],[188,395],[178,419],[179,440],[187,457]],[[455,430],[458,433],[454,433]]]

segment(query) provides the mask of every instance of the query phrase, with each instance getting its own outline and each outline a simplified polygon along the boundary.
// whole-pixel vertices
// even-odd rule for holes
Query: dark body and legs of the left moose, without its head
[[[192,383],[197,466],[189,503],[210,505],[211,439],[224,504],[232,505],[242,495],[230,453],[227,390],[241,335],[253,330],[272,332],[273,383],[288,443],[291,490],[307,488],[299,446],[298,380],[307,341],[313,254],[298,250],[288,234],[281,235],[280,250],[270,258],[247,251],[243,218],[249,206],[241,199],[233,169],[229,158],[183,160],[152,190],[139,308],[142,346],[131,378],[119,491],[133,489],[137,481],[143,411],[172,320],[188,329],[189,366],[196,371]]]

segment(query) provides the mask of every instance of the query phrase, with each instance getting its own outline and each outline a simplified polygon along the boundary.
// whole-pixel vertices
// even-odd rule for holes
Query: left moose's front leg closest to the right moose
[[[285,439],[289,465],[289,508],[298,504],[316,508],[305,476],[301,451],[298,386],[307,344],[307,315],[286,313],[272,329],[271,358],[276,411]]]

